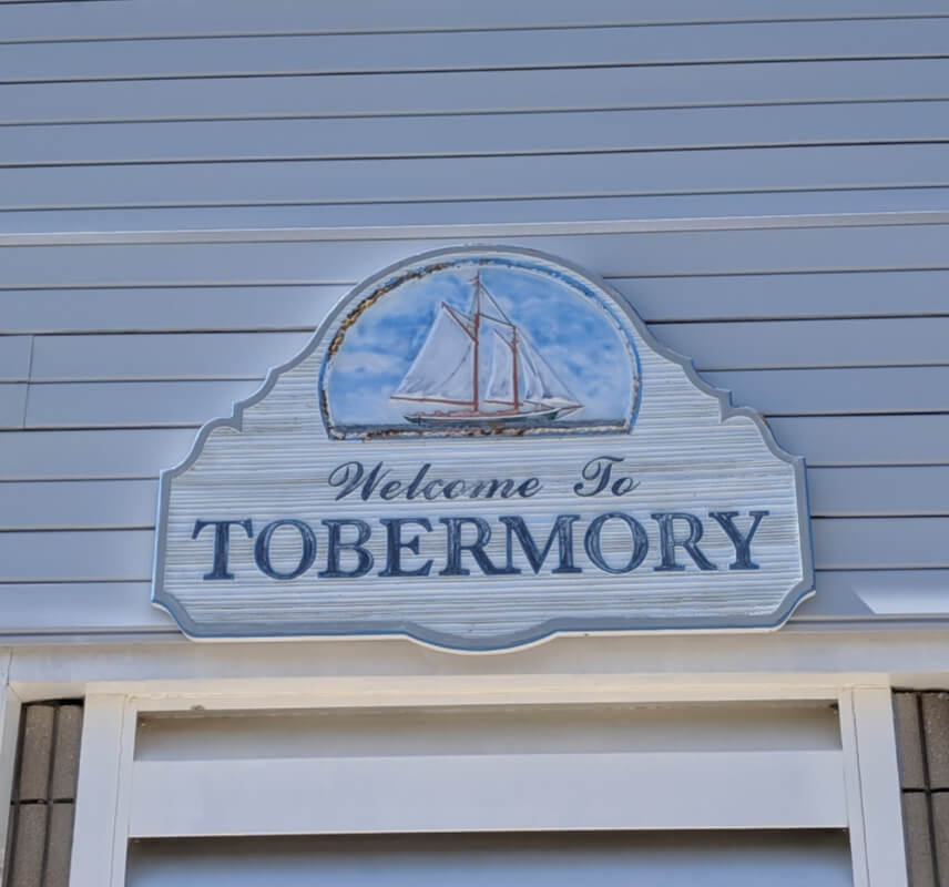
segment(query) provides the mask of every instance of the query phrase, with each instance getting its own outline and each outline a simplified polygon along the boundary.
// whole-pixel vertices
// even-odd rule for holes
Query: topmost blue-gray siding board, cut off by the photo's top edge
[[[846,18],[892,13],[890,0],[834,0],[834,2],[785,2],[763,9],[748,0],[731,0],[714,12],[698,0],[674,3],[649,0],[630,7],[621,0],[595,0],[578,8],[565,0],[522,3],[512,8],[501,0],[489,0],[477,8],[446,7],[435,0],[411,0],[398,11],[387,4],[360,0],[340,9],[299,8],[293,0],[273,0],[265,11],[252,0],[232,3],[207,2],[194,9],[182,0],[162,3],[140,0],[134,10],[121,4],[89,4],[76,10],[70,6],[51,12],[41,4],[18,9],[3,8],[2,33],[8,40],[43,40],[99,37],[153,37],[193,34],[292,33],[295,31],[442,30],[446,28],[519,28],[530,26],[569,27],[571,24],[645,24],[650,22],[734,21],[785,18]],[[55,8],[54,8],[55,9]],[[902,14],[940,14],[942,0],[916,0],[900,7]]]

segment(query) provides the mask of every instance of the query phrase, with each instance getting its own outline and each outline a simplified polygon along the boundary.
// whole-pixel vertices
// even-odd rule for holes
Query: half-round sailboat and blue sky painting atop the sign
[[[608,299],[563,269],[490,255],[381,282],[320,375],[335,438],[627,431],[640,388]]]

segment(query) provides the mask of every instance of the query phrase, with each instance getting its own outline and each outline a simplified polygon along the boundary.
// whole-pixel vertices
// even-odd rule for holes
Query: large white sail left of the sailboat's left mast
[[[471,335],[459,317],[441,305],[428,338],[392,397],[470,404],[473,399],[473,374],[474,343]]]

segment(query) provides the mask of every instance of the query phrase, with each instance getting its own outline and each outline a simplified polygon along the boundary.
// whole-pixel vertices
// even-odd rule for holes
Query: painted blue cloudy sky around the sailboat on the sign
[[[368,307],[346,332],[326,378],[340,425],[406,425],[406,412],[446,409],[391,400],[440,303],[468,313],[477,265],[458,263],[407,281]],[[482,265],[481,281],[508,317],[583,405],[570,418],[623,422],[633,407],[635,360],[629,334],[604,305],[542,271]],[[493,336],[482,335],[487,380]]]

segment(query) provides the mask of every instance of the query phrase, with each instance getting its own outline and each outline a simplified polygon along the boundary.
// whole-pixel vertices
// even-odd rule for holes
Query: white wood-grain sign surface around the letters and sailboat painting
[[[439,255],[442,259],[470,256],[472,251]],[[479,248],[481,253],[531,255],[562,273],[579,274],[535,254]],[[810,591],[802,461],[780,453],[753,412],[728,407],[726,396],[698,383],[681,358],[664,353],[633,313],[592,278],[586,285],[596,287],[624,318],[640,356],[642,391],[631,434],[443,437],[420,432],[396,439],[333,439],[318,404],[320,367],[347,323],[347,308],[392,274],[387,269],[357,287],[296,360],[274,370],[261,394],[237,407],[234,420],[212,422],[188,460],[163,475],[160,513],[164,520],[154,593],[188,633],[407,633],[438,644],[481,649],[525,643],[558,630],[769,628],[783,622]],[[615,477],[630,476],[637,486],[622,496],[609,489],[599,496],[579,496],[574,486],[582,482],[581,470],[604,455],[622,459],[615,463]],[[351,461],[366,469],[382,462],[391,470],[390,478],[405,482],[419,466],[429,463],[430,478],[521,482],[537,477],[542,489],[535,496],[507,500],[400,497],[385,501],[378,495],[364,500],[354,492],[336,501],[340,488],[329,486],[327,478],[337,466]],[[752,511],[767,512],[754,537],[759,569],[729,569],[736,549],[710,519],[713,510],[737,511],[745,520]],[[582,541],[591,521],[616,511],[640,521],[651,552],[641,567],[622,574],[596,569]],[[698,561],[680,548],[682,569],[656,571],[660,522],[652,516],[657,512],[701,516],[706,526],[701,551],[717,569],[698,569]],[[483,551],[494,564],[503,564],[506,538],[497,521],[510,514],[523,517],[540,547],[557,516],[576,514],[573,550],[582,573],[557,573],[544,564],[533,574],[516,552],[518,574],[486,575],[470,558],[463,559],[470,575],[438,574],[446,546],[441,519],[463,516],[488,521],[494,532]],[[420,551],[402,550],[409,561],[406,570],[432,559],[428,575],[379,574],[387,557],[391,558],[380,516],[431,522],[433,531],[421,533]],[[338,518],[363,520],[374,530],[365,541],[374,567],[364,575],[318,577],[326,564],[320,521]],[[227,570],[234,578],[204,580],[211,569],[214,533],[205,530],[193,539],[195,521],[225,519],[251,519],[256,533],[272,521],[304,521],[320,531],[316,562],[292,580],[269,579],[255,565],[256,542],[241,527],[233,527]],[[405,541],[416,532],[421,528],[407,528]],[[677,532],[682,534],[683,529]],[[297,533],[290,530],[283,539],[273,537],[272,559],[282,559],[283,572],[304,560]],[[604,529],[601,541],[609,564],[631,560],[631,533],[622,521]],[[557,560],[555,548],[554,543],[550,562]],[[259,552],[257,558],[259,563]],[[351,557],[345,569],[354,569]]]

